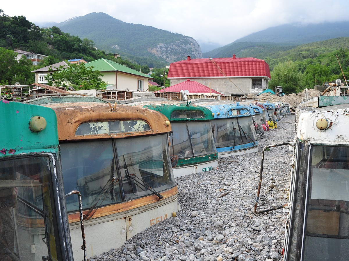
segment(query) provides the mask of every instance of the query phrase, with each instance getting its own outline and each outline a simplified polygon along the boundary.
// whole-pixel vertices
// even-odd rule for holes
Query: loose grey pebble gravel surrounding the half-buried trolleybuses
[[[96,260],[282,260],[287,209],[254,214],[261,151],[266,145],[293,141],[295,116],[258,140],[255,153],[219,158],[218,169],[176,178],[180,211],[135,235]],[[288,203],[292,151],[265,152],[257,211]]]

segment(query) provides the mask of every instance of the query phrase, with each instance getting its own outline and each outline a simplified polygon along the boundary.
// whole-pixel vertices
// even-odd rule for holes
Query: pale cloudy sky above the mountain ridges
[[[268,27],[349,20],[348,0],[60,0],[2,1],[7,16],[23,15],[40,25],[102,12],[219,46]]]

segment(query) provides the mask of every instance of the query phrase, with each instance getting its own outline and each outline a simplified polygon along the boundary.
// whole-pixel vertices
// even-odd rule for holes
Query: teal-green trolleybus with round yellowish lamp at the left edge
[[[73,260],[55,113],[0,100],[0,114],[0,260]]]

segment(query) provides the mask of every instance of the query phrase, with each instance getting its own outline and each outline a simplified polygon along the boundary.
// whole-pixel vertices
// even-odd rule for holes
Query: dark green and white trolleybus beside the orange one
[[[120,101],[127,102],[127,101]],[[218,154],[212,136],[212,112],[190,102],[144,101],[128,103],[155,110],[171,122],[170,153],[178,157],[174,177],[210,171],[218,166]]]

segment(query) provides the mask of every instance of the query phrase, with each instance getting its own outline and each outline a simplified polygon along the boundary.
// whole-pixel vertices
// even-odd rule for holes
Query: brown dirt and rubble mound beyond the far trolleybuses
[[[307,92],[307,98],[305,98]],[[308,100],[310,98],[320,95],[322,92],[314,89],[305,89],[300,93],[286,94],[284,96],[276,96],[270,93],[263,93],[261,95],[249,94],[249,97],[266,99],[270,102],[287,102],[290,106],[297,106],[299,103]]]

